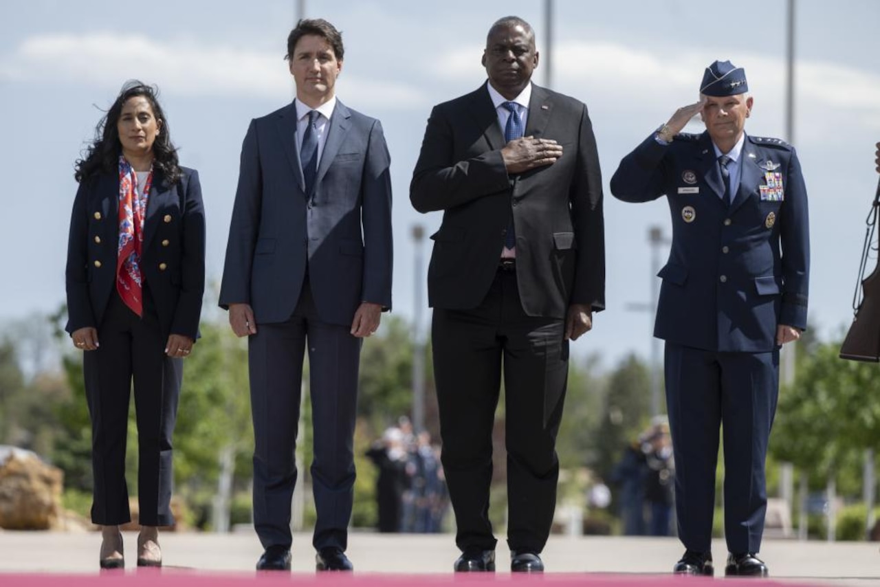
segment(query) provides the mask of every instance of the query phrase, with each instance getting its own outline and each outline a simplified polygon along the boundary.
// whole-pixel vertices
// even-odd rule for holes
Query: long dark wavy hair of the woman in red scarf
[[[153,115],[157,121],[162,121],[161,132],[156,136],[153,143],[153,168],[162,172],[165,182],[172,184],[180,180],[180,165],[178,165],[177,149],[171,142],[171,133],[168,129],[168,119],[159,106],[158,87],[143,84],[136,79],[129,80],[116,97],[113,106],[95,127],[95,138],[85,153],[85,157],[77,159],[76,172],[73,177],[80,183],[89,180],[98,172],[116,173],[119,169],[119,156],[122,152],[122,143],[119,141],[119,129],[117,123],[122,113],[122,106],[129,98],[143,96],[150,102]]]

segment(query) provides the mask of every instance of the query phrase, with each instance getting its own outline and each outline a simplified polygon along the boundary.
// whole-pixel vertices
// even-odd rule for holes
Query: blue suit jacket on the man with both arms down
[[[391,157],[378,120],[337,100],[311,194],[297,152],[294,103],[251,121],[220,305],[257,323],[290,318],[306,270],[319,317],[350,326],[358,305],[391,308]]]

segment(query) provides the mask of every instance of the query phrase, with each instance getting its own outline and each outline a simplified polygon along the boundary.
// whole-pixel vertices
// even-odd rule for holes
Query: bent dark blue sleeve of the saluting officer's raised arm
[[[620,161],[611,178],[611,193],[623,202],[650,202],[664,194],[663,159],[668,147],[654,133]]]

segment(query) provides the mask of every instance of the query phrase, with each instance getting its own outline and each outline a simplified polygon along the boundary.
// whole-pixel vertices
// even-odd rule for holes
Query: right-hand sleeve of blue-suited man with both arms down
[[[391,309],[393,241],[391,226],[391,156],[379,121],[370,128],[363,170],[363,286],[364,302]]]

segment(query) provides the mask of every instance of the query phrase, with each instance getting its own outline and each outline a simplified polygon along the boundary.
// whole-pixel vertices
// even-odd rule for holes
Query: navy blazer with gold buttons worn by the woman
[[[143,224],[141,271],[165,336],[198,337],[205,289],[205,212],[194,169],[169,185],[156,172]],[[67,249],[66,330],[99,327],[116,287],[119,175],[98,172],[79,185]]]

